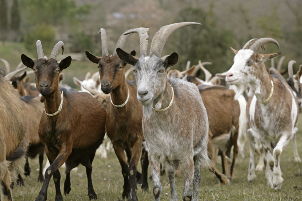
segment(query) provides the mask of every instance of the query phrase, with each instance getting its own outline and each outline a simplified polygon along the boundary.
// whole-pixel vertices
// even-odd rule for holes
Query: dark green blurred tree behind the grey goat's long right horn
[[[183,27],[171,35],[169,41],[173,42],[169,43],[170,46],[167,44],[168,48],[165,48],[169,52],[164,51],[162,55],[176,51],[179,55],[176,68],[183,70],[188,60],[191,61],[191,65],[198,64],[198,60],[211,61],[213,65],[208,67],[208,70],[212,74],[229,68],[232,61],[229,61],[226,55],[231,54],[229,45],[232,44],[233,36],[229,30],[217,27],[213,5],[210,5],[208,12],[201,8],[182,9],[174,21],[202,23],[202,26]]]

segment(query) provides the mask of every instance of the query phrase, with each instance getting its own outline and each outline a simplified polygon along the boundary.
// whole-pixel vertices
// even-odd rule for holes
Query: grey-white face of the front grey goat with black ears
[[[157,56],[141,57],[133,72],[137,81],[137,99],[141,104],[152,103],[165,90],[167,68]]]

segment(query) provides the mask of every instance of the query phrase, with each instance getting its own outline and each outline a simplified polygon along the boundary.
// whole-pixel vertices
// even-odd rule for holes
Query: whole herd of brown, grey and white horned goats
[[[62,84],[60,73],[72,61],[70,56],[56,60],[59,50],[64,51],[62,41],[47,58],[38,40],[38,59],[22,54],[22,62],[13,72],[9,72],[8,62],[1,59],[6,66],[6,72],[0,71],[1,200],[12,200],[14,181],[24,185],[21,173],[31,172],[27,158],[37,154],[38,181],[43,182],[43,186],[36,200],[47,199],[51,177],[55,183],[55,199],[63,200],[59,167],[64,163],[64,194],[71,190],[70,171],[82,164],[86,168],[89,199],[97,199],[92,185],[92,161],[97,149],[106,155],[105,142],[111,143],[120,162],[123,199],[137,200],[137,183],[142,184],[143,190],[149,189],[149,166],[154,200],[160,200],[163,170],[169,177],[170,199],[177,200],[174,170],[179,171],[181,166],[185,178],[182,199],[196,201],[200,168],[208,168],[221,184],[229,183],[238,151],[244,154],[246,142],[250,153],[248,180],[255,179],[255,171],[265,167],[268,185],[281,189],[280,155],[290,140],[294,145],[294,160],[301,162],[295,133],[302,106],[302,65],[294,75],[295,61],[290,61],[289,78],[285,80],[280,72],[284,57],[277,69],[274,68],[273,58],[281,53],[256,52],[260,47],[265,50],[266,43],[274,43],[279,48],[278,42],[260,38],[249,40],[240,50],[231,48],[235,53],[234,64],[227,72],[214,77],[204,68],[210,62],[199,61],[191,68],[188,62],[182,72],[169,70],[177,63],[178,54],[173,52],[161,57],[165,42],[175,30],[188,25],[200,24],[182,22],[161,27],[152,39],[149,55],[149,28],[123,33],[112,54],[108,52],[106,32],[100,29],[102,57],[85,52],[98,66],[98,72],[88,72],[83,81],[74,78],[80,91]],[[139,57],[135,51],[123,50],[132,33],[140,36]],[[272,66],[267,70],[264,62],[269,59]],[[125,72],[127,64],[133,66],[130,69],[135,80],[126,79],[130,78],[131,71]],[[26,67],[21,68],[22,65]],[[20,74],[27,67],[34,73],[34,86],[28,83],[26,72]],[[205,80],[198,78],[201,70]],[[227,86],[220,85],[220,79],[225,79]],[[232,147],[233,159],[228,171],[226,156],[230,158]],[[260,154],[256,167],[255,150]],[[45,176],[44,151],[50,164],[44,168]],[[222,173],[215,168],[216,155],[221,156]],[[139,161],[141,173],[137,171]]]

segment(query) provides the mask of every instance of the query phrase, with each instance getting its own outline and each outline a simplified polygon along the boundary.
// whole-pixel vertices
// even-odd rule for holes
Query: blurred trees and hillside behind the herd
[[[112,52],[119,36],[130,28],[149,27],[151,41],[166,24],[194,21],[202,26],[175,31],[165,45],[162,55],[179,54],[174,68],[183,70],[188,60],[192,65],[201,60],[213,62],[207,67],[212,74],[224,72],[233,61],[229,46],[240,49],[251,38],[272,37],[286,56],[282,68],[287,67],[288,61],[296,60],[297,71],[302,63],[301,8],[300,0],[0,0],[0,57],[16,66],[20,54],[7,55],[5,49],[22,46],[26,49],[21,53],[36,57],[35,43],[40,39],[45,55],[49,55],[54,44],[62,40],[64,56],[79,53],[77,56],[82,59],[72,63],[73,73],[65,72],[65,83],[76,87],[72,76],[83,79],[88,70],[97,71],[84,52],[101,56],[101,36],[97,35],[100,28],[106,29]],[[139,52],[138,41],[134,34],[124,49]],[[279,51],[272,44],[266,48],[266,52]]]

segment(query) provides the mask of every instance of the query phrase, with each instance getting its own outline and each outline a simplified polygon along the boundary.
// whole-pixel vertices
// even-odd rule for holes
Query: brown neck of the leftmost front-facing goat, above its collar
[[[61,104],[61,92],[59,90],[59,87],[56,91],[54,91],[50,95],[42,96],[41,102],[44,102],[44,108],[48,114],[53,114],[56,111],[58,111],[59,106]],[[64,101],[63,101],[62,109],[63,108],[64,108]]]

